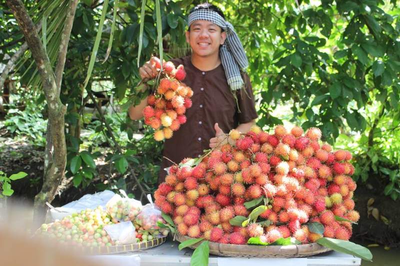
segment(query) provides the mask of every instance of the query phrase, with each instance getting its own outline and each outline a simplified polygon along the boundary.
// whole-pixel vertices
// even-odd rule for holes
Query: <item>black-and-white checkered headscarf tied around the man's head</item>
[[[226,31],[226,40],[219,48],[222,66],[225,69],[225,75],[230,89],[237,90],[242,88],[244,82],[240,75],[240,69],[245,71],[248,66],[248,61],[232,24],[223,19],[217,12],[209,9],[196,9],[191,12],[188,16],[188,26],[190,27],[191,23],[195,20],[211,21]]]

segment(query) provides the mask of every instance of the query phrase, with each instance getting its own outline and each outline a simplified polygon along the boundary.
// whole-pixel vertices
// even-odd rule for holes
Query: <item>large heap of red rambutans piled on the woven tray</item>
[[[320,144],[317,128],[303,133],[281,125],[272,134],[256,126],[247,134],[232,130],[226,137],[234,145],[212,150],[197,165],[185,159],[172,166],[154,193],[155,204],[179,234],[211,242],[348,240],[359,219],[351,153]],[[254,208],[261,212],[252,216]]]

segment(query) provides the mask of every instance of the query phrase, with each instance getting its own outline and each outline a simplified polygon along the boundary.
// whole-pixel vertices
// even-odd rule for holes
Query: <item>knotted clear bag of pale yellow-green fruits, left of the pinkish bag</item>
[[[123,190],[119,192],[122,194],[122,197],[115,194],[105,205],[107,212],[113,219],[113,223],[133,222],[142,208],[141,202],[128,198]]]

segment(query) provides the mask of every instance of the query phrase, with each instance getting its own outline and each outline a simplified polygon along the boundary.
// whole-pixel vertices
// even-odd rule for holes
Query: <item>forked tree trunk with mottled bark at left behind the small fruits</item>
[[[37,225],[43,221],[43,214],[45,211],[44,204],[46,201],[51,202],[54,199],[55,192],[65,171],[66,145],[64,115],[66,107],[61,103],[59,93],[66,49],[72,28],[73,17],[75,16],[77,0],[72,0],[69,3],[58,50],[58,61],[55,73],[23,3],[20,0],[6,1],[25,36],[26,43],[36,62],[48,106],[43,186],[34,199],[33,222]]]

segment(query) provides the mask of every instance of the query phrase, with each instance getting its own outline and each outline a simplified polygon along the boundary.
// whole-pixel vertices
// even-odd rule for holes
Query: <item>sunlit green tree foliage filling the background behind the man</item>
[[[44,6],[49,3],[40,2]],[[57,10],[64,1],[58,2],[59,6],[52,4],[48,8]],[[320,128],[324,141],[354,153],[355,179],[360,182],[376,179],[382,192],[396,200],[400,195],[400,9],[396,1],[209,2],[223,10],[245,47],[259,114],[257,124],[264,129],[280,123]],[[90,122],[91,118],[84,117],[82,112],[82,98],[83,102],[90,102],[86,92],[82,96],[82,85],[97,23],[105,8],[102,3],[82,0],[78,5],[61,90],[61,100],[68,108],[65,117],[69,133],[67,176],[74,176],[76,186],[89,184],[95,175],[95,165],[87,155],[91,159],[98,156],[99,142],[88,142],[85,146],[79,134],[71,132],[80,125],[100,136],[97,140],[106,142],[109,138],[103,122]],[[121,174],[127,171],[126,162],[132,163],[140,169],[137,171],[140,181],[151,190],[159,170],[156,165],[161,146],[151,140],[149,129],[145,129],[148,134],[144,140],[135,139],[138,124],[127,119],[126,110],[120,107],[127,95],[135,102],[146,96],[146,92],[136,90],[141,1],[120,0],[117,6],[114,3],[111,0],[106,6],[97,61],[86,89],[104,91],[116,99],[119,115],[108,116],[107,122],[126,149],[123,154],[113,153],[107,158]],[[197,3],[200,1],[160,2],[166,59],[189,52],[183,34],[187,27],[185,14]],[[38,21],[40,12],[34,9],[35,1],[28,0],[26,5]],[[154,1],[146,2],[140,65],[158,51],[154,6]],[[102,64],[114,8],[117,15],[113,44],[110,56]],[[52,14],[48,12],[49,21]],[[22,35],[9,12],[0,10],[0,27],[4,29],[0,31],[0,60],[6,63],[4,55],[15,52]],[[20,78],[18,94],[23,95],[20,101],[42,104],[44,97],[39,83],[34,82],[34,68],[30,64],[31,60],[19,62],[14,73],[14,78]]]

